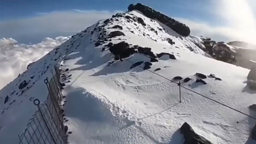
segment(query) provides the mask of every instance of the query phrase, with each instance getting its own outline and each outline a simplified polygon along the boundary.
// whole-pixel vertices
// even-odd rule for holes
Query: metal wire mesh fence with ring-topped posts
[[[66,130],[63,125],[63,110],[61,108],[61,84],[58,66],[51,70],[52,78],[44,80],[48,89],[47,100],[34,104],[38,110],[30,119],[25,132],[19,135],[20,144],[67,144]]]

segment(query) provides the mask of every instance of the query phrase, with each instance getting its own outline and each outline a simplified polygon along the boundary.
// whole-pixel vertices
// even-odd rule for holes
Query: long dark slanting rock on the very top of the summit
[[[190,34],[190,29],[188,28],[188,26],[160,12],[155,11],[148,6],[142,5],[140,3],[136,5],[130,4],[128,7],[128,11],[132,10],[138,10],[142,12],[146,17],[160,21],[161,23],[165,24],[166,26],[180,34],[181,36],[189,36]]]

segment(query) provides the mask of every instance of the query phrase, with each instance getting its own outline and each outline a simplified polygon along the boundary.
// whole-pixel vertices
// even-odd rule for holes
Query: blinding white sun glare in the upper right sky
[[[256,44],[256,20],[248,0],[219,0],[217,13],[236,30],[234,40]]]

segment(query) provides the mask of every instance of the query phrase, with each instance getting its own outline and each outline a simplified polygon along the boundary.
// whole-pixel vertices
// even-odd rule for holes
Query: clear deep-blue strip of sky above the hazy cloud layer
[[[203,12],[211,8],[213,1],[209,0],[1,0],[0,19],[26,18],[41,12],[72,9],[126,11],[132,3],[143,3],[175,17],[212,20],[211,13]]]

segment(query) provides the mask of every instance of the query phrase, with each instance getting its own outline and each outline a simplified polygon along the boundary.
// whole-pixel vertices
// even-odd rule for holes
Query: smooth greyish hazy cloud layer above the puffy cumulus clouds
[[[70,36],[98,20],[120,11],[54,11],[30,18],[0,21],[0,38],[12,37],[21,43],[38,43],[45,37]]]

